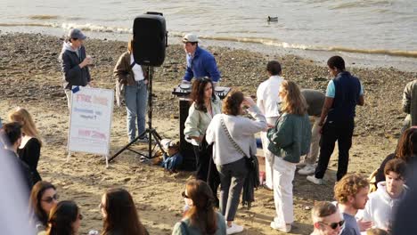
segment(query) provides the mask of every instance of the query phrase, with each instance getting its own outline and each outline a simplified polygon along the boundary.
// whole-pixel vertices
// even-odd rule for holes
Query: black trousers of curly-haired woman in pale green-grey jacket
[[[203,182],[207,182],[213,191],[215,204],[218,205],[217,189],[220,185],[220,175],[213,161],[213,145],[208,145],[207,149],[200,150],[199,146],[192,146],[195,154],[195,162],[197,165],[196,178]]]

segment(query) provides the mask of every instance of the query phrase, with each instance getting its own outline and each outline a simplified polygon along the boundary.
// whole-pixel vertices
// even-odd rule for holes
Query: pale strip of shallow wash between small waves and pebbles
[[[45,36],[62,37],[68,30],[63,28],[45,28],[45,27],[0,27],[0,35],[13,33],[29,33],[42,34]],[[96,32],[86,31],[86,35],[91,39],[106,39],[111,41],[127,42],[130,34],[115,33],[115,32]],[[181,38],[178,36],[169,36],[168,45],[182,45]],[[326,61],[332,55],[340,55],[347,62],[347,68],[362,68],[362,69],[398,69],[405,72],[417,72],[417,58],[403,57],[398,55],[388,55],[383,53],[349,53],[338,51],[322,51],[313,49],[296,49],[285,48],[282,46],[265,45],[253,42],[236,42],[217,39],[201,39],[200,45],[202,47],[218,46],[228,47],[231,49],[248,50],[253,53],[263,53],[267,56],[284,56],[295,55],[303,59],[315,61],[317,65],[325,66]]]

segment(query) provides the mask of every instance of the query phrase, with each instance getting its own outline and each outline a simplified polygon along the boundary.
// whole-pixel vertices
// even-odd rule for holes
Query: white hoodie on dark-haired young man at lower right
[[[369,194],[369,200],[364,208],[364,221],[372,221],[374,227],[387,230],[407,190],[408,188],[404,185],[401,195],[397,199],[392,199],[387,192],[386,183],[379,182],[378,190]]]

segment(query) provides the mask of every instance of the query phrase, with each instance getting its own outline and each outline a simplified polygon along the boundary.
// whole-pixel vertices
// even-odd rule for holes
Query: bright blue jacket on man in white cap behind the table
[[[216,59],[208,51],[197,46],[194,55],[187,54],[187,69],[184,80],[191,81],[192,77],[209,77],[217,83],[220,79],[220,72],[217,69]]]

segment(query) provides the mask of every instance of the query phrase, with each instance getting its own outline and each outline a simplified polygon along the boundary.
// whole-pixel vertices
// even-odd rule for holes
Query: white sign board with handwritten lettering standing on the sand
[[[79,86],[71,95],[68,151],[109,155],[113,90]],[[75,93],[74,93],[75,91]]]

